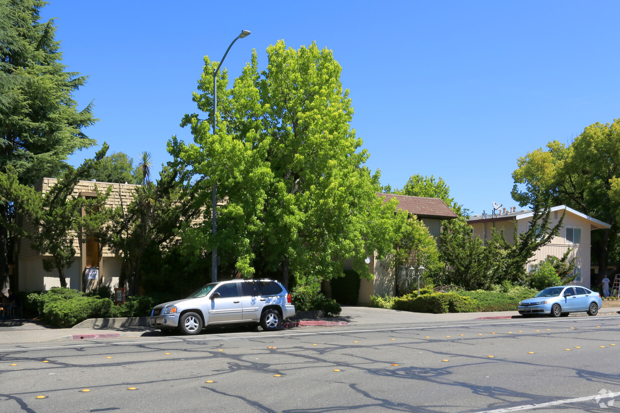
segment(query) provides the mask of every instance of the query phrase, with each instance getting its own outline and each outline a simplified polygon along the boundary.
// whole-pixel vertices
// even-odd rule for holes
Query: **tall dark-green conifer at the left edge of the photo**
[[[86,77],[61,63],[53,20],[40,22],[45,4],[0,0],[0,172],[11,168],[24,185],[55,176],[67,155],[95,144],[82,132],[96,121],[92,104],[79,110],[73,99]],[[5,222],[15,220],[11,202],[0,201]],[[0,284],[7,279],[9,235],[0,227]]]

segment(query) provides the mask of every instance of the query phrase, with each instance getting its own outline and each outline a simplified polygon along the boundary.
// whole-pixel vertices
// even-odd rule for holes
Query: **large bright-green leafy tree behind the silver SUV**
[[[315,43],[298,50],[284,41],[267,48],[268,64],[259,71],[252,53],[241,76],[228,89],[228,74],[218,77],[218,128],[197,115],[193,144],[173,138],[169,152],[188,165],[185,181],[210,205],[218,185],[218,232],[205,225],[184,228],[195,253],[217,245],[226,276],[342,274],[344,259],[368,275],[366,251],[385,254],[396,239],[393,203],[383,206],[378,174],[371,175],[361,139],[350,128],[348,90],[332,51]],[[198,108],[213,116],[217,62],[205,58]],[[225,201],[225,202],[224,202]]]

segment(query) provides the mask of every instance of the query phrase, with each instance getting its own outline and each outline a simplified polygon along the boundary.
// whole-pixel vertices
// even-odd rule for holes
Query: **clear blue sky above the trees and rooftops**
[[[380,3],[380,4],[379,4]],[[236,77],[283,39],[334,51],[350,90],[352,126],[381,183],[441,176],[472,213],[516,206],[518,157],[586,126],[620,118],[620,1],[74,1],[51,0],[64,64],[89,76],[76,93],[94,100],[86,129],[110,152],[154,165],[195,113],[203,56]],[[92,151],[71,158],[79,164]]]

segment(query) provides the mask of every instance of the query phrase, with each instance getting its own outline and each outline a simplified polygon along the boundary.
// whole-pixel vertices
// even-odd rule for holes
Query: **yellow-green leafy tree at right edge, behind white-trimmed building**
[[[606,274],[609,258],[620,266],[620,119],[591,124],[569,146],[549,142],[520,157],[517,166],[513,199],[525,206],[542,196],[611,224],[592,232],[599,277]]]

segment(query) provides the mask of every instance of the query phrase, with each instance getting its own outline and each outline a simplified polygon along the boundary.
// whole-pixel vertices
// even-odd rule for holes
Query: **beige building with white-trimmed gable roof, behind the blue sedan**
[[[561,258],[564,253],[572,248],[569,259],[575,259],[575,271],[577,271],[577,279],[573,284],[590,287],[590,235],[591,231],[609,228],[611,225],[606,224],[598,219],[589,217],[581,212],[575,211],[564,205],[551,208],[551,219],[549,227],[554,227],[564,214],[564,226],[560,233],[552,238],[551,242],[539,248],[528,264],[528,270],[536,263],[543,261],[548,255]],[[516,207],[503,209],[497,215],[489,217],[488,215],[474,215],[467,221],[473,228],[474,236],[489,241],[492,237],[493,230],[504,231],[504,236],[508,243],[514,242],[515,222],[517,233],[523,233],[528,230],[533,217],[532,211],[516,211]]]

